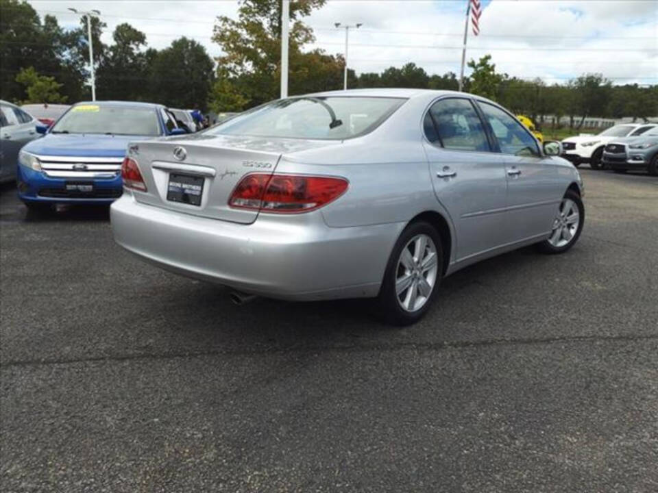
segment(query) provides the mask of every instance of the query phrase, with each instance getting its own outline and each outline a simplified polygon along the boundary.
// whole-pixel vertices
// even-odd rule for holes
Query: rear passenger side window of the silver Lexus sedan
[[[441,99],[432,105],[428,114],[435,131],[432,134],[428,129],[426,118],[425,135],[430,142],[438,140],[446,149],[458,151],[491,151],[482,121],[468,99]],[[432,140],[430,136],[436,137]]]

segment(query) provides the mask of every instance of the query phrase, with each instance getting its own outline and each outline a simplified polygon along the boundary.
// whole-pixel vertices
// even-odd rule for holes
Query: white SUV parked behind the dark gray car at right
[[[651,123],[629,123],[615,125],[596,135],[581,134],[566,138],[562,141],[562,149],[564,151],[562,157],[570,160],[574,166],[578,166],[581,163],[589,163],[592,169],[599,169],[602,166],[601,157],[605,144],[620,137],[639,136],[654,127],[658,127],[658,125]]]

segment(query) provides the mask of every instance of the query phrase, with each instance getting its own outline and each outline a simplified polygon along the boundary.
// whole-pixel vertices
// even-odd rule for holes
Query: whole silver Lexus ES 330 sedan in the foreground
[[[236,300],[376,298],[389,322],[409,324],[456,270],[574,245],[583,183],[559,153],[470,94],[291,97],[130,144],[112,229],[128,251]]]

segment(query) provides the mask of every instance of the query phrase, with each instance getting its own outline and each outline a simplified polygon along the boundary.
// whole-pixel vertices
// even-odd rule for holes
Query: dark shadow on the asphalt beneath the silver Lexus
[[[257,298],[244,305],[230,301],[230,289],[210,283],[182,283],[175,289],[160,292],[152,300],[158,306],[158,318],[166,320],[167,351],[175,352],[182,344],[200,353],[319,351],[330,348],[356,349],[377,346],[392,349],[400,344],[415,344],[417,334],[452,325],[454,305],[470,303],[464,292],[487,286],[511,266],[546,262],[530,248],[468,266],[447,277],[439,288],[439,298],[426,318],[417,325],[395,327],[378,318],[376,303],[370,299],[318,302],[287,302]],[[493,280],[491,285],[493,286]],[[455,303],[451,299],[456,297]],[[460,303],[459,299],[463,299]],[[432,336],[443,340],[443,336]],[[450,331],[445,340],[452,339]]]

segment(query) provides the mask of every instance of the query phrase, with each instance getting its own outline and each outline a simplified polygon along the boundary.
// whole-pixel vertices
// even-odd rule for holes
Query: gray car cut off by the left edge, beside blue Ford
[[[19,151],[39,136],[37,126],[31,114],[0,99],[0,183],[16,179]]]

